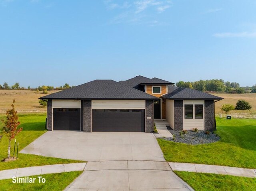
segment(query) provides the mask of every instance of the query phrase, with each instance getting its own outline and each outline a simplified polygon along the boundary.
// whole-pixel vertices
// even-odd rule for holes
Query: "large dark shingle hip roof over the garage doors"
[[[94,80],[40,99],[158,99],[113,80]]]

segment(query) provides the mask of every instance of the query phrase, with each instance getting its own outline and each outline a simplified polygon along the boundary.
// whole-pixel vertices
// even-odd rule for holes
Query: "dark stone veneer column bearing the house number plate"
[[[154,102],[153,100],[146,100],[145,110],[145,132],[152,133],[154,128]]]

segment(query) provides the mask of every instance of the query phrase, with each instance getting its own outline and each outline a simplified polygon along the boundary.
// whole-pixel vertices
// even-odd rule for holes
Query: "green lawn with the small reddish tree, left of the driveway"
[[[1,116],[0,118],[4,118]],[[46,130],[45,127],[46,115],[43,114],[24,114],[19,116],[20,126],[23,127],[22,132],[17,136],[17,142],[19,142],[19,151],[21,151],[28,144],[36,140],[39,136],[44,134]],[[0,122],[0,127],[2,123]],[[14,139],[15,140],[15,139]],[[11,156],[13,155],[14,140],[11,143]],[[17,148],[17,147],[16,147]],[[8,139],[3,136],[0,140],[0,161],[7,158],[8,151]],[[14,169],[29,166],[38,165],[50,165],[50,164],[62,164],[62,163],[76,163],[84,161],[76,161],[71,159],[59,159],[51,157],[43,157],[31,154],[18,154],[18,159],[16,161],[0,162],[0,170]]]

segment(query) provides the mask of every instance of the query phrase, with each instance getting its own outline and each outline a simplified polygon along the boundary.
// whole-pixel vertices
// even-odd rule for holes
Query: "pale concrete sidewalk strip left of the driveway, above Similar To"
[[[41,174],[62,173],[71,171],[83,171],[86,163],[54,164],[44,166],[33,166],[15,168],[0,171],[0,180],[11,179],[12,177],[34,176]]]

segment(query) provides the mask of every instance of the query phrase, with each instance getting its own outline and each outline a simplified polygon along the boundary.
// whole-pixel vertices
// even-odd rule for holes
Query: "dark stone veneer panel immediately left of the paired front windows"
[[[174,100],[174,130],[183,129],[183,100]]]

